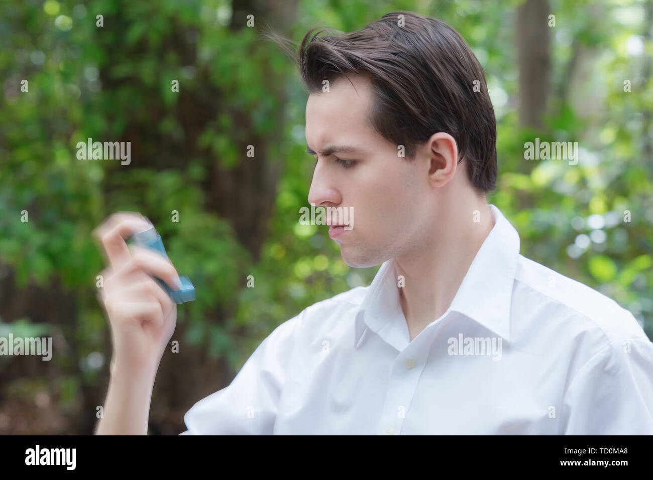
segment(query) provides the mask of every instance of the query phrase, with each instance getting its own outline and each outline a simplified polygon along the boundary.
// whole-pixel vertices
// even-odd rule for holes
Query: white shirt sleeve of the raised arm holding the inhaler
[[[301,315],[301,314],[300,314]],[[182,435],[271,435],[300,315],[281,323],[250,355],[227,387],[183,416]]]

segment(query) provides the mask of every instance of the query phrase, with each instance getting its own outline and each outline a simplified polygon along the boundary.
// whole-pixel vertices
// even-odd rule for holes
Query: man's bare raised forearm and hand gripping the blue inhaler
[[[154,378],[176,325],[177,308],[153,277],[170,288],[181,286],[170,260],[146,248],[128,247],[125,239],[151,228],[135,213],[116,213],[94,232],[109,266],[103,271],[99,301],[114,346],[111,379],[96,434],[148,433]]]

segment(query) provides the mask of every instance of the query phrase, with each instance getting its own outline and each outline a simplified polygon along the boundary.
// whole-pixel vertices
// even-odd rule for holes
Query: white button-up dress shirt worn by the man
[[[393,260],[281,323],[183,434],[653,434],[653,343],[628,310],[495,225],[409,340]]]

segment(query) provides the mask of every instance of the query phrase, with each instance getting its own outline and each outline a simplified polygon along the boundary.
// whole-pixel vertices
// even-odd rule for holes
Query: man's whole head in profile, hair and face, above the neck
[[[335,239],[343,260],[379,265],[432,241],[447,192],[496,188],[485,74],[456,31],[411,12],[345,35],[314,33],[297,57],[310,93],[307,151],[318,160],[308,201],[351,207],[354,228]]]

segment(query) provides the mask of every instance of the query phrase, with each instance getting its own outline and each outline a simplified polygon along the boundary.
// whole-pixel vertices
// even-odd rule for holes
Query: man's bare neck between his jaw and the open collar
[[[438,224],[420,250],[394,259],[397,275],[404,276],[400,302],[410,341],[451,305],[471,262],[494,226],[485,197],[443,209]],[[474,211],[479,214],[475,222]]]

